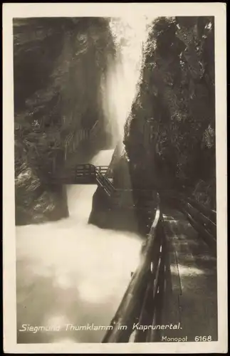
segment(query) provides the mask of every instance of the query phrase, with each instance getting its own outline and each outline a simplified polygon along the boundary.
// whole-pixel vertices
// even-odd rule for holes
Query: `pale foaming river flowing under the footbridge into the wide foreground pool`
[[[88,224],[96,186],[66,189],[67,219],[16,227],[18,342],[100,342],[105,330],[75,328],[110,325],[137,268],[140,236]]]

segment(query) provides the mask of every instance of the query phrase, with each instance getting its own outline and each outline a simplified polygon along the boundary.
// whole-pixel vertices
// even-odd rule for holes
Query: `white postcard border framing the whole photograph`
[[[14,17],[215,16],[216,63],[216,212],[218,337],[216,342],[127,344],[17,344],[16,244],[14,216]],[[3,5],[3,275],[4,352],[14,353],[214,353],[227,351],[227,191],[226,191],[226,4],[225,3],[57,3]]]

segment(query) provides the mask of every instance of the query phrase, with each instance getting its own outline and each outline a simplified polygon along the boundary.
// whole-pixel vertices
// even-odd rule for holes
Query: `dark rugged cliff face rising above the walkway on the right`
[[[213,18],[164,17],[150,25],[124,144],[132,187],[184,186],[215,207]]]

